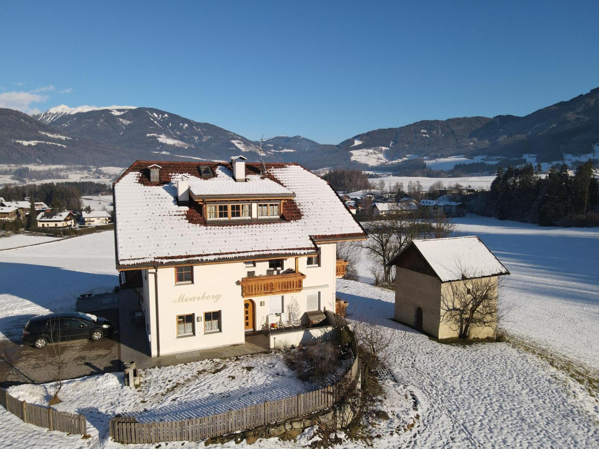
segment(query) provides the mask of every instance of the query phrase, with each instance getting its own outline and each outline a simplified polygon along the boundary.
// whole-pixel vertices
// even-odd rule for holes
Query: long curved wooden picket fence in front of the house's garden
[[[332,386],[299,393],[289,398],[265,401],[240,409],[182,421],[138,423],[132,416],[116,417],[110,420],[109,433],[114,441],[135,444],[201,441],[228,435],[331,408],[340,395],[355,387],[359,377],[360,362],[356,356],[351,368]]]

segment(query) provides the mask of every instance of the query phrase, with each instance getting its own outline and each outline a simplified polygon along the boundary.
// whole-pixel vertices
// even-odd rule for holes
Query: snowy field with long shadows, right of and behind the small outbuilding
[[[503,301],[513,307],[504,327],[599,369],[599,229],[454,221],[511,272],[503,278]]]

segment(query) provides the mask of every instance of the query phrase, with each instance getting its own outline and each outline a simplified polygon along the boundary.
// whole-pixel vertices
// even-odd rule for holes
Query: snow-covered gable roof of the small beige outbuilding
[[[414,240],[390,263],[394,264],[412,246],[418,249],[441,282],[460,280],[462,274],[466,278],[510,274],[477,236]]]

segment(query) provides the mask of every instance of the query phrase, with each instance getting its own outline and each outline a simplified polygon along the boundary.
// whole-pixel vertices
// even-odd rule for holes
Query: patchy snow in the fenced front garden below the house
[[[137,389],[124,385],[122,373],[67,380],[55,408],[93,413],[90,433],[97,437],[108,433],[108,420],[117,413],[140,422],[185,420],[313,390],[295,377],[281,352],[143,369],[140,377]],[[8,391],[21,401],[47,405],[52,386],[23,384]]]

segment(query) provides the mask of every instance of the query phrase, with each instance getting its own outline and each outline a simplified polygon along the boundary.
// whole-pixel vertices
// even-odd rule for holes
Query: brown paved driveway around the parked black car
[[[101,310],[95,314],[113,321],[116,329],[119,329],[118,309]],[[118,336],[119,333],[116,332],[100,341],[82,339],[63,342],[60,344],[62,363],[56,355],[56,344],[49,344],[38,350],[20,342],[0,341],[0,386],[56,380],[59,365],[62,366],[63,379],[122,371]]]

